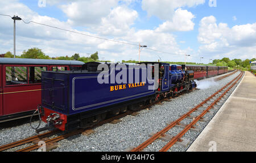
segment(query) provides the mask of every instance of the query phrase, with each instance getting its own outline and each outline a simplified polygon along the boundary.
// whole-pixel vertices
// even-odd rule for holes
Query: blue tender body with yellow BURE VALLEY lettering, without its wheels
[[[142,69],[133,68],[134,80],[126,84],[110,83],[110,78],[109,83],[101,84],[97,81],[101,72],[42,72],[42,106],[72,115],[155,94],[155,90],[148,90],[154,83],[143,83]],[[135,81],[135,69],[139,70],[139,81]],[[108,74],[116,77],[119,72],[110,69]]]

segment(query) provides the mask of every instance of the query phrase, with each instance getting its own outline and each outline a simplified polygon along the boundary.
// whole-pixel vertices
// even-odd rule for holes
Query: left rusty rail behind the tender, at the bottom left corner
[[[2,145],[0,147],[0,151],[5,151],[7,149],[14,148],[14,147],[17,147],[17,146],[22,145],[22,144],[30,143],[31,141],[34,141],[34,140],[37,140],[37,139],[42,139],[43,137],[51,136],[51,135],[53,135],[57,132],[58,132],[57,130],[49,131],[49,132],[45,132],[45,133],[42,133],[42,134],[39,134],[39,135],[28,137],[26,139],[15,141],[15,142],[10,143],[10,144]]]

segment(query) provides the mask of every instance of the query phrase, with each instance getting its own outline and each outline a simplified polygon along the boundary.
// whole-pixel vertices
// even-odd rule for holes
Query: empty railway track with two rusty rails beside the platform
[[[174,122],[170,123],[167,127],[162,129],[159,132],[156,132],[150,139],[147,139],[142,144],[140,144],[138,147],[133,148],[130,150],[130,152],[139,152],[143,151],[144,148],[146,148],[148,145],[152,144],[155,140],[159,139],[160,137],[166,136],[166,132],[168,132],[171,128],[175,127],[176,125],[179,125],[182,120],[185,118],[191,118],[192,112],[198,110],[198,108],[202,107],[205,103],[210,102],[209,106],[205,108],[201,112],[200,115],[193,118],[192,122],[187,124],[185,128],[180,131],[176,136],[172,137],[172,139],[162,148],[159,150],[159,152],[166,152],[168,149],[172,147],[177,141],[181,142],[183,139],[181,137],[191,128],[195,128],[195,124],[200,120],[203,119],[203,116],[209,112],[211,108],[213,108],[216,103],[220,101],[222,97],[237,83],[238,80],[243,76],[243,72],[241,72],[236,78],[234,78],[232,81],[230,81],[228,84],[226,84],[224,87],[222,87],[220,90],[216,91],[213,95],[205,99],[205,101],[201,102],[199,105],[195,106],[191,110],[189,110],[186,114],[182,115],[179,119],[175,120]],[[230,86],[229,86],[230,85]],[[220,95],[221,94],[221,95]],[[219,95],[219,96],[218,96]]]

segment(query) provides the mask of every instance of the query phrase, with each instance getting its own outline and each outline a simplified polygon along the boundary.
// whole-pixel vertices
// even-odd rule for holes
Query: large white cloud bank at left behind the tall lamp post
[[[88,35],[121,41],[126,40],[135,44],[143,43],[150,48],[160,49],[161,51],[171,53],[183,52],[179,49],[179,45],[172,34],[156,32],[155,30],[135,31],[131,28],[134,21],[138,18],[138,13],[125,5],[113,7],[109,9],[109,12],[98,16],[100,18],[100,22],[97,24],[98,27],[90,26],[90,32],[75,30],[73,24],[70,23],[71,19],[67,22],[62,22],[56,18],[41,16],[18,1],[1,1],[0,6],[3,6],[0,8],[0,13],[19,15],[26,22],[34,20],[35,22]],[[108,37],[109,35],[112,37]],[[13,52],[13,20],[6,16],[1,16],[0,43],[0,53]],[[116,61],[129,60],[130,58],[138,60],[138,47],[135,46],[73,34],[39,24],[25,24],[22,21],[16,22],[16,55],[21,55],[24,50],[33,47],[42,49],[46,55],[51,57],[72,56],[74,53],[86,56],[86,53],[98,51],[99,57],[104,57],[105,60],[110,60],[113,57]],[[164,55],[147,49],[143,49],[141,52],[141,60],[156,61],[158,60],[157,55],[162,60],[179,61],[179,58],[172,55]]]

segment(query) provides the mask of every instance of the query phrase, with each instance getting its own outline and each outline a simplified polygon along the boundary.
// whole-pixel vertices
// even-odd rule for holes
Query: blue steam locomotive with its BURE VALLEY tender
[[[88,62],[81,70],[42,72],[39,110],[50,127],[71,131],[92,126],[107,114],[137,110],[140,105],[195,87],[193,71],[185,70],[185,65],[177,70],[176,65],[163,62]]]

